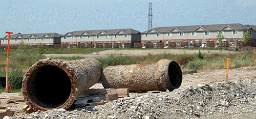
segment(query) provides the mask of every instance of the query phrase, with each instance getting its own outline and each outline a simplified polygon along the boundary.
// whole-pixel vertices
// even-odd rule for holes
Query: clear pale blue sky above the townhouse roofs
[[[144,32],[148,3],[153,28],[203,24],[256,25],[255,0],[172,1],[0,1],[0,38],[14,34],[133,28]]]

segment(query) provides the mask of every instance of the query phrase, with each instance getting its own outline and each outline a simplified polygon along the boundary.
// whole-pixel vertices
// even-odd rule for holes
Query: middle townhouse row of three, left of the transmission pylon
[[[131,28],[74,31],[61,36],[62,47],[134,47],[135,42],[141,42],[141,34]]]

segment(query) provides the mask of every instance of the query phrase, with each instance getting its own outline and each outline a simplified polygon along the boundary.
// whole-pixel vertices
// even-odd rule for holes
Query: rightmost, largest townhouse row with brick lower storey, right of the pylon
[[[153,47],[158,47],[158,43],[162,47],[214,47],[219,45],[216,38],[222,31],[224,46],[239,47],[247,30],[252,37],[249,45],[256,47],[256,26],[239,23],[156,27],[141,33],[141,43],[143,47],[148,43]]]

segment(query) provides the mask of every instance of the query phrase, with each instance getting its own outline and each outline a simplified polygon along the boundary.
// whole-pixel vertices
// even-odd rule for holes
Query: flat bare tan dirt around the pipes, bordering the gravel
[[[231,69],[229,70],[228,80],[244,80],[256,78],[256,66],[254,67],[243,67],[238,69]],[[214,82],[222,82],[226,80],[226,70],[216,70],[216,71],[208,71],[208,72],[200,72],[194,74],[186,74],[183,75],[182,84],[180,88],[185,88],[188,85],[196,87],[200,83],[214,83]],[[91,88],[103,88],[101,83],[97,83],[93,85]],[[23,114],[22,108],[26,105],[25,103],[7,103],[8,98],[10,96],[20,96],[21,93],[2,93],[0,95],[0,107],[10,107],[19,113],[15,112],[16,114]],[[131,93],[130,95],[136,95]]]

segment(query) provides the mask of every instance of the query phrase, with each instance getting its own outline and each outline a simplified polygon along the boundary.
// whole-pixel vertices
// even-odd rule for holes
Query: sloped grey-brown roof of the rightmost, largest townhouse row
[[[247,30],[247,29],[249,29],[251,27],[254,30],[256,30],[256,27],[254,25],[243,25],[243,24],[240,24],[240,23],[233,23],[233,24],[209,24],[209,25],[188,25],[188,26],[167,26],[167,27],[156,27],[156,28],[153,28],[153,29],[155,29],[155,31],[157,31],[159,33],[168,33],[168,32],[170,32],[174,28],[179,29],[181,32],[193,32],[198,27],[202,27],[206,31],[220,31],[222,28],[224,28],[226,26],[230,26],[230,27],[232,27],[234,29],[237,29],[237,30],[241,30],[241,29]],[[148,31],[145,31],[145,32],[142,32],[142,33],[147,33]]]

